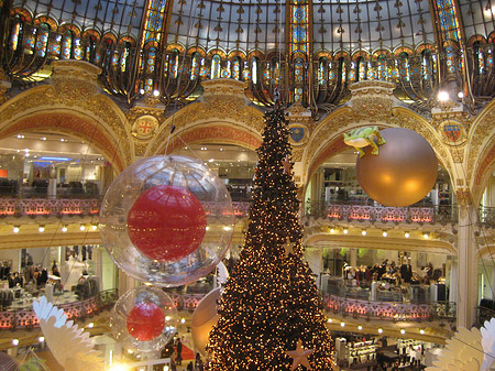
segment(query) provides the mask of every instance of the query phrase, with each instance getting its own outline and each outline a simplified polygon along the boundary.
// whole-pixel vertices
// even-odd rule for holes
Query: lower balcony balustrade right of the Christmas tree
[[[366,319],[387,320],[454,320],[455,303],[429,304],[369,302],[323,293],[323,308],[334,314]]]

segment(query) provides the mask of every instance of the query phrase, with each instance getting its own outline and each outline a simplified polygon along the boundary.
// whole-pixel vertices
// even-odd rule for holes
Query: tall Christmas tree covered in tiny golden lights
[[[332,370],[320,296],[302,258],[284,111],[267,112],[265,123],[245,244],[223,287],[206,370]]]

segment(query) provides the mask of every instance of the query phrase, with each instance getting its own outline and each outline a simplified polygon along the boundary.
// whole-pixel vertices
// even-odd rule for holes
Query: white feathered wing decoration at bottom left
[[[33,302],[40,327],[53,356],[66,371],[103,370],[103,359],[94,349],[89,332],[67,321],[64,310],[52,305],[45,296]]]

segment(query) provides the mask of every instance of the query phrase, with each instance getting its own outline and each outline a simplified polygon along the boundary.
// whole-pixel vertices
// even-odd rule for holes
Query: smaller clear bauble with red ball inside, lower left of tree
[[[116,303],[110,328],[116,340],[136,351],[160,350],[177,331],[174,301],[162,290],[139,286]]]

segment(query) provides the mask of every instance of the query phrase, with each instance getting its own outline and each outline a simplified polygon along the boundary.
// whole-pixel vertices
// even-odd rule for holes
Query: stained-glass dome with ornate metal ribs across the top
[[[254,103],[279,96],[317,114],[380,79],[426,114],[440,88],[474,110],[495,96],[495,8],[431,2],[432,13],[427,0],[9,0],[1,56],[14,87],[50,77],[53,59],[87,61],[128,106],[156,94],[174,110],[202,80],[234,78]]]

